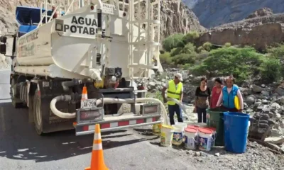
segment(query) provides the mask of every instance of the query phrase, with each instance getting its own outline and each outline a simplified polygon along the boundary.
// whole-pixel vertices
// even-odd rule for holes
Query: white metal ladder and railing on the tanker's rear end
[[[125,1],[125,0],[123,0]],[[141,11],[141,6],[145,6],[145,11]],[[136,16],[135,13],[137,12]],[[142,16],[145,16],[143,18]],[[152,63],[153,57],[160,61],[160,0],[136,0],[129,1],[129,75],[132,82],[135,79],[143,79],[144,86],[147,87],[149,69],[157,69]],[[134,36],[133,27],[138,27],[138,36]],[[141,36],[141,35],[145,36]],[[142,63],[134,62],[134,51],[144,48],[141,52],[146,52],[145,60]],[[139,68],[141,74],[134,76],[133,69]],[[137,92],[145,92],[137,91]]]

